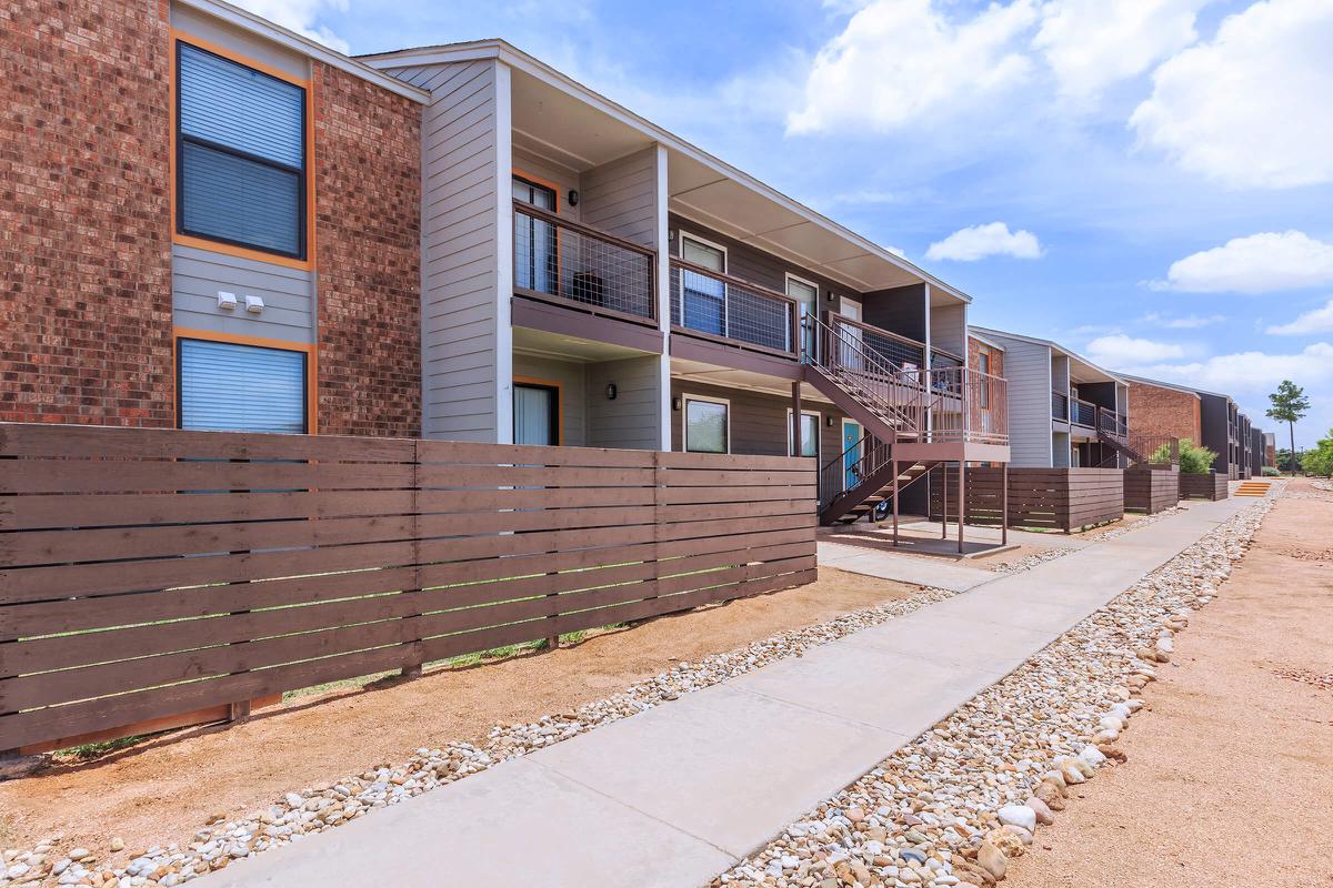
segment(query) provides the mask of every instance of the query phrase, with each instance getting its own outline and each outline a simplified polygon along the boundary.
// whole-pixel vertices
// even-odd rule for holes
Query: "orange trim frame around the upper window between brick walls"
[[[279,80],[285,80],[289,84],[300,87],[305,91],[305,258],[296,260],[288,256],[277,256],[275,253],[265,253],[264,250],[247,249],[244,246],[236,246],[232,244],[220,244],[217,241],[211,241],[204,237],[192,237],[189,234],[181,234],[176,229],[176,53],[179,43],[187,43],[200,49],[207,49],[215,55],[224,59],[231,59],[236,64],[245,65],[247,68],[253,68]],[[180,244],[183,246],[193,246],[201,250],[211,250],[213,253],[223,253],[225,256],[236,256],[239,258],[256,260],[259,262],[272,262],[273,265],[283,265],[285,268],[300,269],[303,272],[309,272],[315,269],[315,83],[309,77],[293,77],[285,71],[273,68],[272,65],[265,65],[263,61],[256,61],[237,52],[220,47],[211,40],[204,40],[203,37],[196,37],[184,31],[176,28],[171,29],[171,65],[169,75],[167,77],[167,101],[171,113],[171,125],[168,126],[168,176],[171,189],[171,234],[172,242]]]

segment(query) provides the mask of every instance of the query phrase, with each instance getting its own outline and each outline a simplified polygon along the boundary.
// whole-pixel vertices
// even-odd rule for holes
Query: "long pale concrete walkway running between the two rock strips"
[[[204,883],[706,884],[1248,505],[1201,503],[1148,533],[1024,574],[992,574],[949,600],[237,861]]]

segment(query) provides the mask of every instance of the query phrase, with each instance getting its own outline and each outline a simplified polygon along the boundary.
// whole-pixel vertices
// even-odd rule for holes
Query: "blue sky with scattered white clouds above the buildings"
[[[1333,426],[1329,0],[245,0],[352,53],[504,37],[974,297]],[[1285,430],[1280,439],[1285,438]]]

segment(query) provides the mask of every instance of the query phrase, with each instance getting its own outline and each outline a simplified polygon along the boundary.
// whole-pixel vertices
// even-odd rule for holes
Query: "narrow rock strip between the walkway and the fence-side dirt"
[[[528,724],[497,726],[480,746],[451,743],[441,748],[417,750],[407,762],[383,763],[328,784],[288,792],[261,811],[240,820],[224,815],[209,819],[192,840],[181,847],[164,844],[136,849],[123,863],[123,843],[111,839],[111,855],[101,849],[69,848],[61,836],[51,836],[29,851],[4,851],[0,885],[97,885],[169,888],[221,869],[235,860],[299,841],[304,836],[348,823],[376,808],[397,804],[436,787],[484,771],[505,759],[567,740],[603,724],[637,715],[682,694],[698,691],[729,678],[744,675],[788,656],[800,655],[862,628],[904,616],[934,604],[956,592],[925,588],[906,598],[844,614],[837,619],[806,626],[753,642],[742,648],[717,654],[698,663],[678,663],[669,672],[645,679],[615,696],[589,703],[573,712],[547,715]],[[111,832],[113,827],[108,827]],[[120,861],[112,863],[119,859]]]

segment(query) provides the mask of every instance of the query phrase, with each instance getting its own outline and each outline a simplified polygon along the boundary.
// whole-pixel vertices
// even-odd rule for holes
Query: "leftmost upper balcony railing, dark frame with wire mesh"
[[[513,289],[520,296],[645,322],[657,317],[652,248],[513,204]]]

